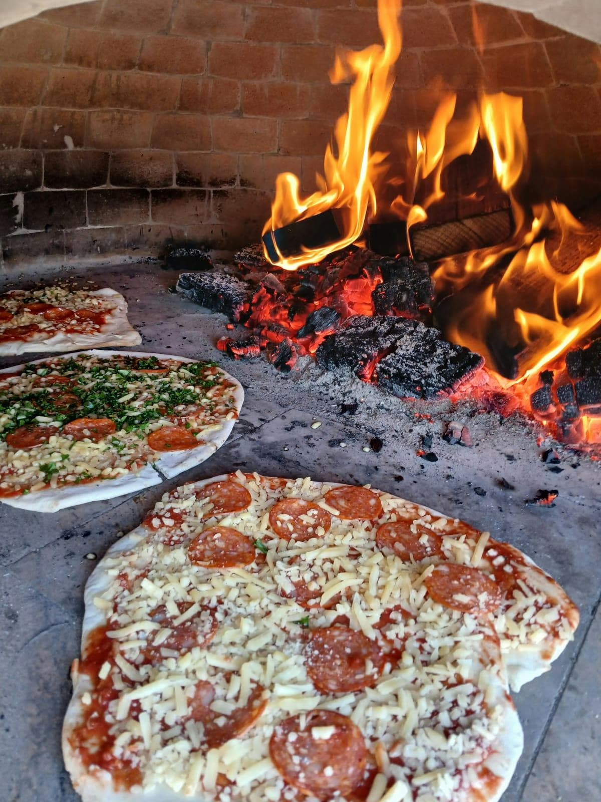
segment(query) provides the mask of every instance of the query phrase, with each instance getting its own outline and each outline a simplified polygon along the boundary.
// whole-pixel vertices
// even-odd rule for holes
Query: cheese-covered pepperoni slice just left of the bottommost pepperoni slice
[[[260,685],[254,687],[245,705],[235,707],[227,715],[216,713],[211,709],[214,698],[215,689],[212,684],[200,680],[199,683],[196,683],[194,696],[188,703],[189,718],[200,721],[204,725],[203,739],[208,749],[216,749],[232,738],[244,735],[267,707],[267,699],[264,699],[264,687]],[[216,723],[217,720],[220,723]]]

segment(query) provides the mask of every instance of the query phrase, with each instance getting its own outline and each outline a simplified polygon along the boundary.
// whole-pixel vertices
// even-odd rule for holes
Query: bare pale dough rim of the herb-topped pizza
[[[150,351],[118,351],[118,350],[85,350],[77,351],[75,354],[65,354],[58,358],[72,359],[80,354],[87,354],[89,356],[97,356],[99,358],[110,356],[137,356],[147,358],[155,356],[159,359],[176,359],[181,363],[193,363],[198,360],[190,359],[184,356],[173,356],[172,354],[154,354]],[[52,357],[56,359],[57,357]],[[38,363],[47,362],[48,357],[36,359],[34,362],[23,363],[22,365],[14,365],[13,367],[6,367],[0,371],[0,377],[3,373],[14,373],[21,371],[25,364],[36,365]],[[224,379],[234,385],[234,399],[236,401],[236,412],[240,414],[240,409],[244,403],[244,390],[242,385],[232,375],[224,372]],[[179,473],[188,471],[196,465],[200,465],[205,460],[214,454],[218,448],[225,443],[229,435],[232,434],[232,429],[236,423],[236,418],[232,420],[224,420],[221,424],[219,431],[212,431],[210,438],[204,444],[190,448],[182,452],[165,452],[154,460],[154,463],[144,465],[139,472],[131,472],[127,476],[119,476],[118,479],[102,480],[98,482],[89,482],[87,484],[70,484],[65,485],[63,488],[47,490],[40,490],[36,493],[29,493],[26,496],[11,496],[8,498],[0,499],[2,504],[8,504],[10,507],[18,509],[28,509],[34,512],[58,512],[60,509],[67,507],[74,507],[76,504],[88,504],[92,501],[103,501],[106,499],[116,498],[117,496],[124,496],[128,493],[139,492],[146,488],[151,488],[155,484],[160,484],[165,478],[171,479],[172,476],[177,476]]]

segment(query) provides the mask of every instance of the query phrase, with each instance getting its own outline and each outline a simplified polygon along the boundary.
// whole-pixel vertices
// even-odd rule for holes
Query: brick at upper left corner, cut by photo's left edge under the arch
[[[26,64],[60,64],[67,29],[62,26],[26,19],[0,30],[2,61]]]

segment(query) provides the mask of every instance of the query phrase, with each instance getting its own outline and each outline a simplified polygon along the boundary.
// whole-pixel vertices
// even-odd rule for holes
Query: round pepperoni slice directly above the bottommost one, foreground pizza
[[[372,663],[369,667],[367,660]],[[318,691],[336,694],[372,687],[384,661],[377,643],[362,632],[329,626],[311,634],[305,665]]]

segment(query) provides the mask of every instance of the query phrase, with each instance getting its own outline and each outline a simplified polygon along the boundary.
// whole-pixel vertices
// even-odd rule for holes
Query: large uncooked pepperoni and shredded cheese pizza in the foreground
[[[241,472],[165,494],[85,602],[63,727],[84,802],[493,802],[522,750],[508,678],[578,623],[461,521]]]

